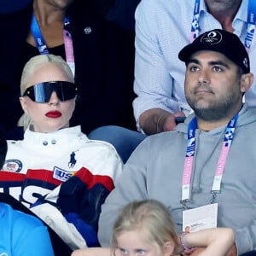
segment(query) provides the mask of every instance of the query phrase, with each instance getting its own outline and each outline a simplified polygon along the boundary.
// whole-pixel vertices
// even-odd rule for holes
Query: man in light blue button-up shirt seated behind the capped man
[[[215,28],[234,32],[247,45],[256,73],[255,17],[254,0],[142,0],[136,11],[133,102],[139,131],[148,135],[173,131],[175,117],[189,114],[183,92],[185,67],[177,53],[203,32]],[[256,106],[255,81],[245,100],[249,107]]]

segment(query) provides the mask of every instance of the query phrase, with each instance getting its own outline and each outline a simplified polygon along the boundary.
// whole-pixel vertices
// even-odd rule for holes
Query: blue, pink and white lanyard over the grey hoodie
[[[238,113],[236,113],[235,117],[230,120],[229,124],[225,129],[224,141],[222,144],[221,152],[218,158],[218,165],[216,167],[216,171],[215,171],[213,183],[212,183],[211,203],[214,202],[217,194],[220,193],[220,186],[221,186],[221,180],[224,173],[224,166],[226,164],[226,160],[230,153],[230,147],[234,137],[237,119],[238,119]],[[197,128],[197,121],[194,118],[190,121],[189,127],[188,127],[187,151],[186,151],[186,158],[183,166],[182,201],[181,201],[181,203],[183,204],[183,207],[186,207],[186,203],[189,202],[189,198],[190,198],[191,175],[192,175],[193,162],[194,162],[194,156],[195,156],[196,128]]]

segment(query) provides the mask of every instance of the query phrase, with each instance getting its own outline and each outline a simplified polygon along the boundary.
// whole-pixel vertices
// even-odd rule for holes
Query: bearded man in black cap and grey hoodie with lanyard
[[[131,154],[102,206],[99,241],[108,246],[120,208],[153,198],[169,208],[178,231],[189,221],[190,231],[230,227],[236,242],[227,255],[247,253],[256,249],[256,109],[242,101],[253,83],[247,51],[235,34],[216,29],[178,57],[186,64],[185,96],[194,113]]]

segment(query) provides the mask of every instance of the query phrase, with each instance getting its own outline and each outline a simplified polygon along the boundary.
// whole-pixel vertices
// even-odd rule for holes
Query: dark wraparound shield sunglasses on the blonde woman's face
[[[78,88],[67,81],[44,82],[26,88],[23,96],[30,97],[33,102],[46,103],[54,91],[61,102],[65,102],[77,95]]]

